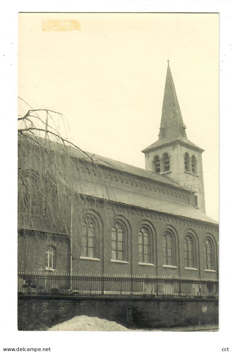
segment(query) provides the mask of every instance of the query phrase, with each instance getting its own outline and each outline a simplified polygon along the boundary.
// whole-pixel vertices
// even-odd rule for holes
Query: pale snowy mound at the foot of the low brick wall
[[[55,325],[48,331],[131,331],[114,321],[99,319],[86,315],[75,316],[63,323]]]

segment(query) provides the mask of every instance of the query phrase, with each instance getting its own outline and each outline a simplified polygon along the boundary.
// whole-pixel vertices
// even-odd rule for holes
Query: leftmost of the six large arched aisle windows
[[[82,225],[81,255],[83,257],[97,257],[96,230],[95,220],[90,216],[87,216]]]

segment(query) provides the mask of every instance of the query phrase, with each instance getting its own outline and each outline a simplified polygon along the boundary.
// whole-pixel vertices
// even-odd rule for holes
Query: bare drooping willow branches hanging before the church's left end
[[[89,187],[94,189],[96,195],[98,192],[101,194],[103,189],[108,194],[102,168],[91,155],[63,138],[56,128],[47,123],[47,119],[45,122],[40,117],[42,112],[46,112],[54,122],[52,115],[62,116],[61,113],[30,108],[24,116],[18,117],[19,228],[69,235],[72,203],[79,219],[76,231],[80,232],[89,204],[88,193],[84,194],[82,185],[85,185],[86,191]],[[42,123],[44,128],[37,122]],[[41,137],[41,133],[45,133],[45,138]],[[88,168],[92,171],[86,173]],[[95,200],[91,205],[92,211],[97,211],[97,202]],[[102,202],[107,203],[107,222],[110,224],[113,210],[107,199],[102,199]]]

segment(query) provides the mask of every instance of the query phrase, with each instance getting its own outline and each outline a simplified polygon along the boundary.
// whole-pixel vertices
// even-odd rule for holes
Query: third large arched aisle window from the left
[[[147,226],[142,226],[138,232],[138,261],[151,263],[151,234]]]

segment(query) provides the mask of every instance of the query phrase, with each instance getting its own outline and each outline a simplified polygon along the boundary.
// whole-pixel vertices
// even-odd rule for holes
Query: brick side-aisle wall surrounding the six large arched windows
[[[95,202],[92,204],[92,202]],[[165,275],[165,276],[181,276],[181,277],[198,277],[217,279],[217,243],[218,243],[218,226],[211,226],[210,224],[201,221],[194,221],[188,219],[181,219],[175,216],[165,216],[157,212],[145,211],[136,207],[128,206],[113,206],[112,218],[108,216],[104,204],[99,203],[96,207],[96,201],[89,200],[87,209],[95,206],[99,219],[101,219],[103,227],[99,233],[100,246],[100,261],[93,262],[90,260],[80,259],[80,238],[78,231],[73,228],[73,270],[89,271],[96,270],[99,274],[117,273],[117,274],[134,274],[134,275]],[[74,214],[73,218],[78,221],[78,214]],[[123,221],[127,229],[127,249],[128,249],[128,263],[112,263],[111,262],[111,227],[114,219]],[[154,266],[146,266],[138,264],[138,231],[141,225],[149,225],[152,230],[152,257]],[[170,228],[175,234],[176,239],[176,266],[177,268],[163,267],[163,253],[162,253],[162,236],[166,229]],[[185,269],[184,259],[184,239],[187,233],[191,233],[195,239],[195,254],[197,270]],[[212,238],[214,244],[214,261],[215,272],[205,271],[204,262],[204,240],[206,236]]]

